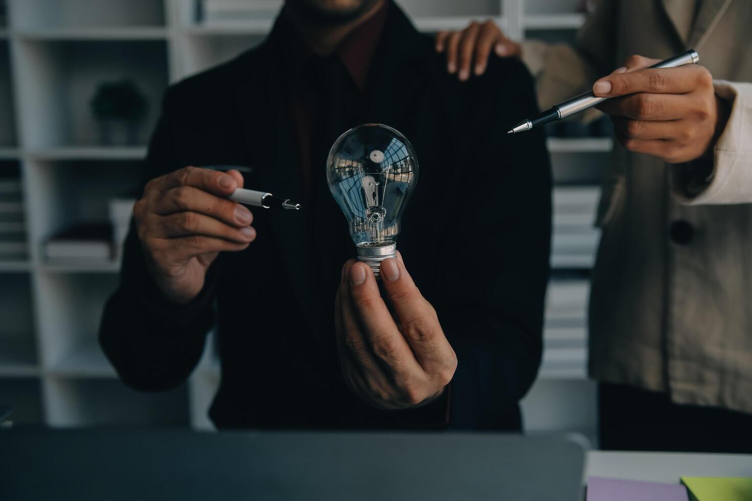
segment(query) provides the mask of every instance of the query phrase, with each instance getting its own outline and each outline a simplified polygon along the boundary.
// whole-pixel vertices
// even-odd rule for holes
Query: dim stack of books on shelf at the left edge
[[[14,171],[0,171],[0,261],[27,261],[21,181]]]

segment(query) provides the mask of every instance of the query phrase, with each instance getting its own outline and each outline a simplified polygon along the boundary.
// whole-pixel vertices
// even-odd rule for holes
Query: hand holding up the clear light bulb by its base
[[[368,264],[351,259],[342,269],[335,329],[344,380],[381,409],[424,405],[444,392],[456,355],[399,252],[396,259],[381,261],[381,277],[396,318]]]

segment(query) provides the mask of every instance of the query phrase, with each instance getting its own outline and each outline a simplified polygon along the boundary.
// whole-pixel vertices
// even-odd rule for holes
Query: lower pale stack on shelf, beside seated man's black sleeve
[[[553,279],[546,292],[541,376],[587,377],[587,279]]]

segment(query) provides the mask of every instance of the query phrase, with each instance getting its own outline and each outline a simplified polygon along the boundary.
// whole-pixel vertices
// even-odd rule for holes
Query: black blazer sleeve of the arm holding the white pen
[[[169,91],[150,141],[141,189],[148,180],[180,168],[173,153],[168,96]],[[171,303],[151,279],[131,223],[120,285],[105,305],[99,328],[99,343],[126,385],[140,391],[163,391],[190,376],[214,324],[216,282],[213,265],[196,300],[181,306]]]

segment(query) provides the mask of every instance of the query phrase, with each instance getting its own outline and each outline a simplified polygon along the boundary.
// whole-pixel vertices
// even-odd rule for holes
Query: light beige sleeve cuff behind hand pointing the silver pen
[[[731,113],[715,145],[713,164],[709,168],[693,162],[672,166],[672,192],[680,202],[689,205],[749,204],[752,202],[752,83],[716,80],[714,85],[716,95],[729,104]]]

